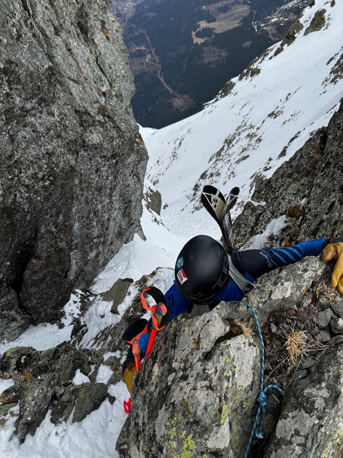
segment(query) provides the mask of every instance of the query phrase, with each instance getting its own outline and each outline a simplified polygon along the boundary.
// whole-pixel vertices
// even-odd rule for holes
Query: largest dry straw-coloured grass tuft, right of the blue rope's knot
[[[326,345],[309,337],[306,332],[307,331],[295,331],[294,326],[291,331],[284,332],[286,342],[283,348],[287,350],[289,365],[298,365],[300,360],[305,356],[309,356],[310,351],[327,348]]]

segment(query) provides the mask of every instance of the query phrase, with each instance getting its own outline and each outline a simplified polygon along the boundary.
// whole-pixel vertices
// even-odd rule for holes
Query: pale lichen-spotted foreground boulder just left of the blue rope
[[[230,338],[229,310],[169,325],[134,380],[116,445],[123,458],[243,456],[261,351],[256,337]]]

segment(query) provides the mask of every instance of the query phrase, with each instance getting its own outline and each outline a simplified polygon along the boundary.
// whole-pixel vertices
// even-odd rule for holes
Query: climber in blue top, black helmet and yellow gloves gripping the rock
[[[343,238],[308,240],[293,247],[232,251],[228,254],[221,242],[208,235],[197,235],[182,248],[175,265],[175,281],[165,294],[170,316],[162,318],[161,325],[181,313],[191,317],[212,310],[220,301],[240,301],[254,288],[261,275],[300,261],[304,256],[318,256],[321,260],[336,259],[332,272],[332,286],[343,293]],[[163,321],[164,320],[164,321]],[[151,322],[151,320],[150,320]],[[150,337],[150,323],[145,319],[135,322],[124,340],[139,338],[143,358]],[[129,350],[123,363],[123,378],[129,392],[136,372],[134,355]]]

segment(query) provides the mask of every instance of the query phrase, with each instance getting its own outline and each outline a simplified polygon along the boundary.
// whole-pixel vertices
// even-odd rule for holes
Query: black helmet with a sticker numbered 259
[[[208,235],[189,240],[177,256],[175,281],[180,294],[193,304],[210,304],[228,281],[226,251]]]

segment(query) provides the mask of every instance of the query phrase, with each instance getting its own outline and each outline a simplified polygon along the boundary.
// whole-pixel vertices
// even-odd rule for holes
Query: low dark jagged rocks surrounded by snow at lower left
[[[67,421],[72,410],[73,422],[99,408],[107,398],[107,385],[95,383],[103,356],[96,350],[76,350],[67,343],[52,349],[37,351],[32,347],[14,347],[5,351],[0,360],[0,376],[12,378],[14,385],[0,395],[0,415],[19,401],[19,415],[14,433],[20,442],[34,434],[37,426],[51,409],[51,421],[59,425]],[[90,382],[74,385],[77,369]]]

